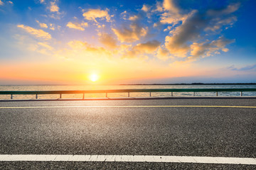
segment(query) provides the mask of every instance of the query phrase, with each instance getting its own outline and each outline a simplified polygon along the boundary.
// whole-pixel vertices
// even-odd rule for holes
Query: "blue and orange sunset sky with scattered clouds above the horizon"
[[[256,83],[255,7],[0,0],[0,84]]]

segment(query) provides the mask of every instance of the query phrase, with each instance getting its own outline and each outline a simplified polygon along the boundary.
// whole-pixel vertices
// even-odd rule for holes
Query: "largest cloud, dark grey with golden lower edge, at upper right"
[[[165,9],[174,11],[174,13],[180,13],[180,11],[182,11],[180,8],[176,8],[174,4],[170,4],[170,2],[173,1],[168,2],[169,4],[165,6]],[[188,59],[219,54],[220,50],[228,52],[225,45],[234,42],[234,40],[220,37],[218,40],[210,42],[210,40],[204,39],[208,36],[208,30],[216,32],[223,26],[231,26],[236,21],[236,17],[230,16],[230,13],[233,13],[237,9],[238,5],[229,5],[221,10],[210,9],[206,11],[206,13],[199,13],[193,10],[186,15],[182,15],[183,19],[172,18],[172,21],[166,21],[166,23],[173,24],[166,28],[166,30],[170,30],[169,35],[165,38],[164,45],[166,50],[169,50],[170,54],[175,57],[188,57]],[[215,15],[211,15],[212,13],[215,13]],[[221,14],[226,14],[226,16],[221,16]],[[161,17],[163,17],[163,15]],[[163,18],[161,19],[161,21],[163,21]],[[180,19],[182,22],[174,27],[174,24]]]

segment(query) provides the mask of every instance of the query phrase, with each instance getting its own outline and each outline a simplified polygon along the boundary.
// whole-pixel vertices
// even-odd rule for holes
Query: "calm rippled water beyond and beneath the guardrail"
[[[111,86],[0,86],[0,91],[66,91],[107,89],[235,89],[256,88],[256,85],[111,85]],[[110,98],[127,97],[127,93],[107,94]],[[153,97],[168,97],[171,93],[151,93]],[[174,93],[174,96],[193,96],[193,92]],[[214,92],[196,92],[196,96],[215,96]],[[240,96],[240,92],[219,92],[218,96]],[[256,92],[243,92],[242,96],[256,96]],[[56,95],[38,95],[38,98],[59,98]],[[149,93],[130,93],[130,97],[149,97]],[[14,99],[34,99],[35,95],[14,95]],[[82,94],[63,94],[62,98],[82,98]],[[105,94],[85,94],[85,98],[105,98]],[[0,95],[0,100],[10,95]]]

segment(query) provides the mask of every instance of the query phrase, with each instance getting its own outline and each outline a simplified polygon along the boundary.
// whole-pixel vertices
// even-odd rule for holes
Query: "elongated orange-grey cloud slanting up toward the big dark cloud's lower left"
[[[146,57],[146,54],[152,54],[159,47],[161,42],[157,40],[139,43],[132,47],[131,50],[124,53],[124,58]]]

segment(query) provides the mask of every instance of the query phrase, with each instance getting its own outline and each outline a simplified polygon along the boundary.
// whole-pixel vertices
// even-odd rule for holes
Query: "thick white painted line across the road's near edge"
[[[178,162],[197,164],[256,164],[256,158],[156,155],[0,154],[0,162]]]

